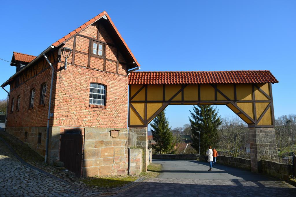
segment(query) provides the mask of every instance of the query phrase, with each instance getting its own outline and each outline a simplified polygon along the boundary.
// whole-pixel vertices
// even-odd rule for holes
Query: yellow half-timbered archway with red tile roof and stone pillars
[[[129,75],[130,132],[137,133],[147,170],[147,126],[168,105],[226,105],[250,128],[251,170],[258,161],[278,161],[270,71],[132,72]]]

